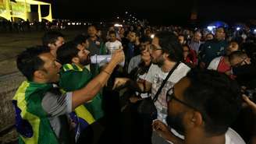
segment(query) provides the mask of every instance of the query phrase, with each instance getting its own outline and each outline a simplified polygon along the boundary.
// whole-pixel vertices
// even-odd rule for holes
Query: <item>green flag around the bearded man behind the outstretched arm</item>
[[[75,64],[62,65],[62,70],[60,73],[61,73],[61,79],[59,81],[59,86],[67,92],[80,90],[81,88],[86,86],[87,83],[89,83],[92,79],[92,74],[91,72],[89,72],[87,68],[80,68],[78,65],[75,65]],[[96,120],[98,120],[98,118],[102,118],[104,115],[101,104],[102,104],[101,93],[98,93],[97,96],[94,97],[92,101],[84,105],[87,108],[87,110],[91,112],[93,117]],[[84,109],[86,109],[85,107]],[[80,117],[81,111],[80,112],[77,111],[76,114],[78,115],[78,117]]]

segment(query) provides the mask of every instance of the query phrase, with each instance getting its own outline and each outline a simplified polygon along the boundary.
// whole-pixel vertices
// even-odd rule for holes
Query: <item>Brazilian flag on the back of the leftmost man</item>
[[[20,134],[20,144],[59,143],[48,121],[48,115],[41,106],[44,93],[50,89],[52,84],[24,81],[13,97],[12,104],[16,110],[16,130]]]

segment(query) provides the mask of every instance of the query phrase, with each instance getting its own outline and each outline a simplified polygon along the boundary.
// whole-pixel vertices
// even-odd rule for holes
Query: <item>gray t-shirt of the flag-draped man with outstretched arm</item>
[[[41,104],[48,114],[48,120],[59,139],[59,143],[71,143],[68,114],[72,112],[72,93],[61,96],[51,92],[45,93]]]

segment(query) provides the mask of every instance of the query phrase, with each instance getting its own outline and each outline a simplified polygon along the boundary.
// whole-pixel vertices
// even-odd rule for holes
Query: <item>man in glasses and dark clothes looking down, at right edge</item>
[[[247,48],[246,44],[243,46],[243,49]],[[248,55],[249,54],[244,51],[235,51],[229,55],[229,61],[232,66],[231,72],[236,76],[236,81],[240,84],[242,91],[255,102],[255,94],[253,92],[256,90],[256,65],[253,58],[250,58]],[[253,115],[250,109],[244,107],[243,111],[240,112],[239,118],[234,123],[234,128],[244,136],[243,138],[246,142],[249,141],[252,136],[255,137],[256,125],[254,121],[256,117]]]

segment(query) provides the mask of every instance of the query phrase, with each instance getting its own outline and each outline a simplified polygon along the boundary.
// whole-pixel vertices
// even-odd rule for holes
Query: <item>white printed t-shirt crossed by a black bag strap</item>
[[[190,71],[190,68],[183,64],[182,62],[178,67],[172,72],[172,75],[169,77],[168,81],[165,83],[165,86],[162,88],[161,93],[158,95],[158,100],[155,101],[155,107],[158,111],[158,120],[166,124],[165,118],[167,117],[167,104],[166,104],[166,93],[171,89],[175,83],[179,82],[184,76],[187,75],[187,72]],[[152,84],[151,86],[151,97],[155,96],[162,82],[165,80],[165,77],[169,72],[162,72],[162,68],[159,68],[158,65],[151,65],[146,76],[146,81]]]

